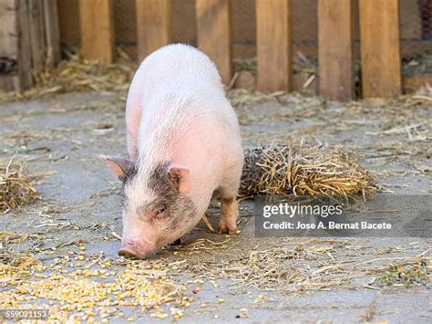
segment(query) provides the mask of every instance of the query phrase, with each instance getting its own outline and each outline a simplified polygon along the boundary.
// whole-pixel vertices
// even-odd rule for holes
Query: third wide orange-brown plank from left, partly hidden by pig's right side
[[[232,78],[231,0],[196,0],[196,15],[198,47],[213,59],[228,85]]]

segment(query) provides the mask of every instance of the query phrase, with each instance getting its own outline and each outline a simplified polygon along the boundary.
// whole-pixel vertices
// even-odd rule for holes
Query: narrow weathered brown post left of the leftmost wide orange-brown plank
[[[44,0],[46,67],[57,66],[61,59],[57,0]]]

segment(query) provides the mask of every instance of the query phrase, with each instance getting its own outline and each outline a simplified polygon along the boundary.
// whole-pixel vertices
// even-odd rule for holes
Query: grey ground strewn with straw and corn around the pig
[[[245,148],[274,139],[328,144],[376,172],[386,192],[432,193],[430,93],[349,104],[243,90],[230,97]],[[145,261],[118,258],[120,184],[98,154],[126,156],[124,105],[124,93],[113,92],[0,104],[0,159],[7,161],[17,151],[15,159],[32,172],[53,172],[36,185],[39,202],[0,215],[0,231],[29,235],[9,246],[29,249],[45,266],[24,278],[1,280],[2,298],[55,308],[51,319],[60,321],[159,321],[164,314],[165,320],[183,322],[432,321],[429,238],[254,237],[251,203],[242,203],[238,235],[212,234],[201,223],[183,246],[167,247]],[[212,204],[213,225],[218,212],[218,204]],[[160,306],[117,303],[107,311],[97,298],[94,308],[79,309],[71,290],[69,297],[50,298],[26,286],[53,273],[61,276],[61,287],[62,278],[79,269],[108,271],[73,277],[77,286],[90,280],[84,282],[88,286],[134,268],[140,272],[131,270],[133,286],[150,277],[182,288]],[[19,293],[16,287],[30,290]],[[14,304],[3,299],[0,305]]]

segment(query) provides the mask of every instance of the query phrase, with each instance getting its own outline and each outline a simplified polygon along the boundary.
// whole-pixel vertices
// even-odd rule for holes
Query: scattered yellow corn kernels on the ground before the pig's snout
[[[124,317],[120,307],[139,308],[158,319],[183,316],[180,308],[193,298],[185,296],[188,287],[167,278],[168,265],[128,262],[116,271],[116,261],[99,256],[95,262],[80,252],[46,266],[33,259],[20,268],[1,265],[0,308],[49,308],[48,320],[59,322],[108,322]]]

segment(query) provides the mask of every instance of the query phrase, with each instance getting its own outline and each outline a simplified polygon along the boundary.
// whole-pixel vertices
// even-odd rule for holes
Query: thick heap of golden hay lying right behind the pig
[[[377,189],[369,172],[345,152],[275,142],[245,152],[240,195],[351,196]]]

